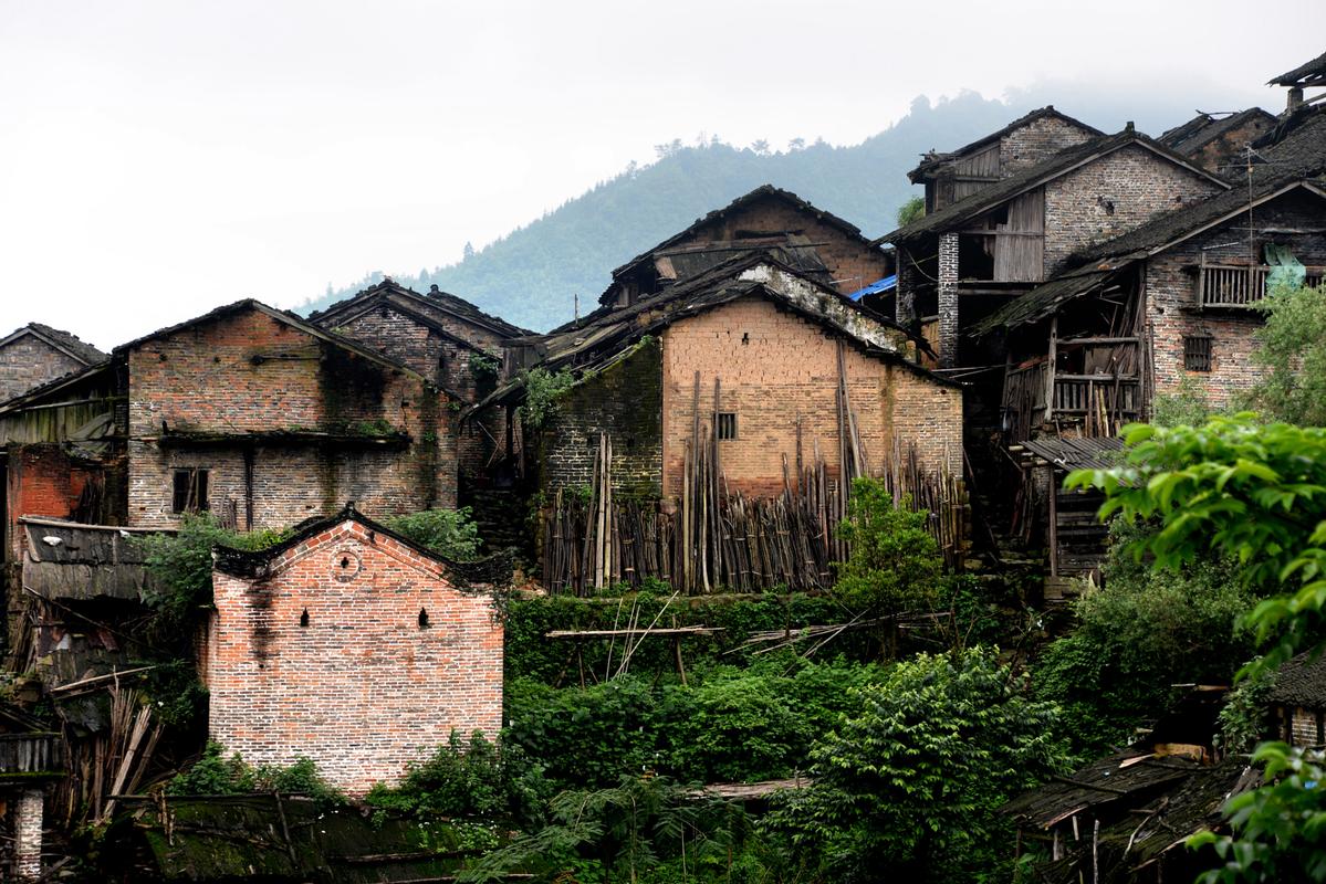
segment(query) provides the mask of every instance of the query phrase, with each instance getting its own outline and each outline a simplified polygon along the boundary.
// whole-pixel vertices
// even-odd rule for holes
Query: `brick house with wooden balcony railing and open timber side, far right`
[[[1249,187],[1083,250],[973,326],[1006,341],[1010,439],[1049,424],[1110,435],[1158,395],[1192,390],[1225,407],[1257,383],[1269,260],[1293,256],[1309,285],[1326,273],[1326,115],[1258,152]]]

